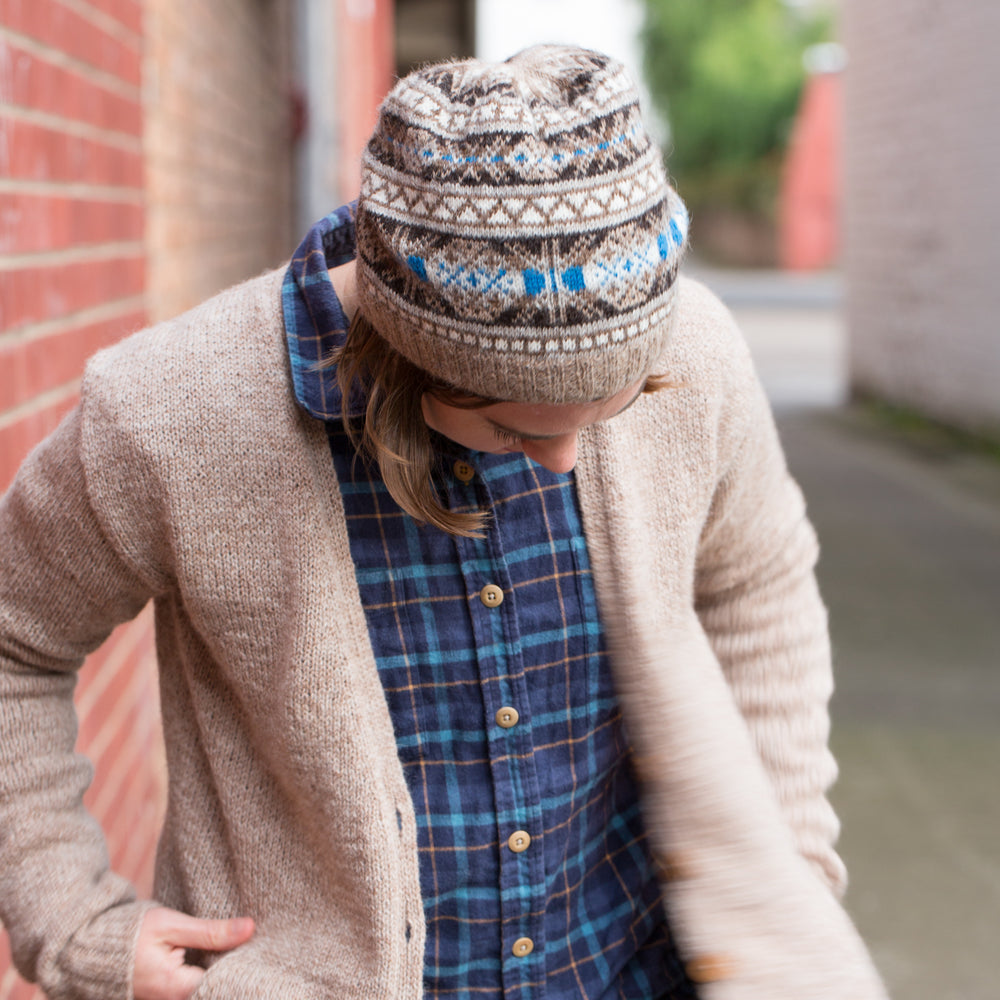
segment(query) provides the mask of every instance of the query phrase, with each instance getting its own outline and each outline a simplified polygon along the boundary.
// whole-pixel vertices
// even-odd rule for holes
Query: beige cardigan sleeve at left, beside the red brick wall
[[[0,917],[51,1000],[128,1000],[149,903],[109,868],[82,804],[75,672],[153,592],[95,513],[74,410],[0,501]]]

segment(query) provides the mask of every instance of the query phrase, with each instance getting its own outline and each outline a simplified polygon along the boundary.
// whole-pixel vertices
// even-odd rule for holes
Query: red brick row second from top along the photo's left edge
[[[59,115],[95,128],[142,135],[142,105],[137,90],[132,98],[87,79],[65,66],[39,58],[0,38],[0,60],[8,67],[6,103]]]

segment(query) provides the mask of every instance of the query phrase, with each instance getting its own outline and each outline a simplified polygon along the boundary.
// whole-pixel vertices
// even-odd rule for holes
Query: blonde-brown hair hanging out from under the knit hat
[[[436,456],[421,401],[429,394],[449,406],[474,410],[503,400],[463,392],[418,368],[390,347],[361,312],[355,313],[343,346],[321,362],[323,368],[334,365],[345,401],[356,384],[364,389],[364,414],[359,420],[345,414],[344,428],[361,457],[377,463],[396,503],[418,522],[481,538],[489,513],[448,510],[434,489]],[[664,377],[651,375],[642,391],[656,392],[667,385]]]

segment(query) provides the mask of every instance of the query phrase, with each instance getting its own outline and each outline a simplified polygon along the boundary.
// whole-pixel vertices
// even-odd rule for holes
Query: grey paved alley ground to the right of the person
[[[843,405],[837,277],[697,276],[747,335],[820,536],[848,909],[897,1000],[997,1000],[1000,462]]]

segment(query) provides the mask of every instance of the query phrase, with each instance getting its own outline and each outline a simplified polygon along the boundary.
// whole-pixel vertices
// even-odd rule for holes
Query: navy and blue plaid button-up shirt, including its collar
[[[442,498],[488,508],[490,529],[456,538],[399,510],[357,460],[330,373],[310,367],[343,335],[323,276],[349,254],[351,222],[349,209],[334,213],[300,248],[286,326],[300,402],[327,421],[416,808],[427,994],[694,997],[628,766],[573,477],[436,435]],[[484,601],[487,585],[501,603]],[[508,707],[519,719],[505,728]],[[514,850],[524,833],[530,844]],[[533,944],[523,957],[522,938]]]

